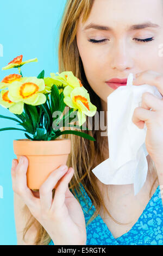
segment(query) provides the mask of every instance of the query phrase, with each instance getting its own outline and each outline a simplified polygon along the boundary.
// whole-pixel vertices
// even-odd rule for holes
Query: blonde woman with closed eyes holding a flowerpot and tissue
[[[60,27],[59,72],[71,70],[81,80],[97,111],[106,112],[107,97],[117,88],[106,81],[127,78],[130,72],[135,85],[156,86],[163,95],[162,8],[162,0],[67,1]],[[101,136],[100,130],[85,131],[96,142],[65,136],[72,141],[67,166],[54,170],[39,193],[26,185],[28,159],[13,160],[18,244],[163,244],[162,118],[163,101],[145,93],[133,122],[140,129],[147,125],[149,169],[136,196],[133,184],[104,185],[91,172],[108,158],[108,137]]]

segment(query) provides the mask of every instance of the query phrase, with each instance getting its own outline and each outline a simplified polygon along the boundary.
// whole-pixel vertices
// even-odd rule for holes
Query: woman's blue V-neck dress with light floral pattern
[[[96,209],[83,186],[82,188],[87,204],[82,194],[78,198],[87,223]],[[139,220],[126,234],[115,239],[99,215],[87,225],[86,234],[86,245],[163,245],[163,207],[160,186],[149,200]],[[54,245],[52,240],[49,245]]]

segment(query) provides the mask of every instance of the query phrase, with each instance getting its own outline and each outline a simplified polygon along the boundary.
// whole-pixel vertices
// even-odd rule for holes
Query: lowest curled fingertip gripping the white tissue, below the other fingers
[[[134,110],[132,121],[135,125],[139,126],[140,129],[143,129],[145,122],[148,124],[154,120],[154,113],[154,111],[149,111],[145,108],[137,107]]]

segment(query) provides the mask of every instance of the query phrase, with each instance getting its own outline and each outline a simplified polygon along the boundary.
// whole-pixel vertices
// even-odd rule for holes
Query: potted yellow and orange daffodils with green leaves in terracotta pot
[[[86,121],[85,115],[93,117],[97,107],[92,105],[89,93],[72,71],[51,73],[51,77],[45,77],[42,70],[37,77],[23,77],[21,66],[37,62],[37,58],[24,62],[22,58],[22,55],[18,56],[2,68],[18,69],[19,74],[10,74],[0,83],[0,105],[16,116],[0,115],[0,118],[16,121],[18,127],[6,127],[0,131],[25,132],[26,139],[14,140],[14,153],[18,160],[21,155],[27,156],[27,185],[32,190],[38,190],[52,170],[66,164],[71,152],[70,139],[59,136],[73,134],[95,141],[84,132],[62,131],[61,128],[81,130]],[[68,111],[64,113],[66,108]],[[79,125],[72,124],[73,121],[78,121]]]

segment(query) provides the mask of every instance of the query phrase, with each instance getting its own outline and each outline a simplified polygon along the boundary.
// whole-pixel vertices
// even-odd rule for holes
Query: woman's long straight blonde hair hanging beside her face
[[[85,22],[87,20],[94,1],[95,0],[68,0],[66,2],[60,25],[58,57],[59,72],[72,71],[74,76],[77,76],[82,82],[83,86],[88,90],[90,94],[90,100],[94,105],[97,106],[97,111],[99,112],[101,110],[101,101],[98,95],[91,89],[89,83],[87,82],[82,59],[80,58],[76,41],[79,18],[83,14],[82,21]],[[93,121],[94,127],[95,120]],[[88,123],[88,120],[86,120],[87,125]],[[74,175],[68,187],[71,189],[71,192],[74,194],[74,196],[78,199],[77,194],[80,193],[80,184],[82,184],[85,188],[86,193],[90,197],[92,204],[95,206],[96,211],[94,212],[90,220],[86,223],[86,225],[90,224],[90,222],[93,221],[96,216],[98,216],[101,206],[103,206],[104,210],[116,223],[124,224],[116,221],[106,209],[102,199],[102,193],[101,191],[99,191],[96,183],[96,176],[91,172],[91,169],[95,168],[97,164],[105,160],[102,154],[104,148],[104,141],[101,139],[100,136],[101,131],[92,129],[89,131],[83,130],[83,132],[93,136],[96,141],[92,142],[88,139],[84,139],[76,135],[62,136],[62,138],[71,139],[71,154],[68,156],[67,166],[73,167]],[[155,168],[154,162],[151,160],[149,165],[149,169],[152,171],[153,168]],[[75,190],[77,191],[77,193]],[[149,197],[151,197],[151,192]],[[28,208],[27,206],[25,206],[24,211],[27,210]],[[35,245],[48,245],[48,243],[51,241],[51,237],[49,237],[47,231],[42,227],[39,222],[37,222],[33,215],[30,216],[26,227],[24,228],[23,240],[25,241],[26,233],[33,224],[37,224]]]

